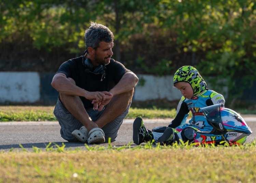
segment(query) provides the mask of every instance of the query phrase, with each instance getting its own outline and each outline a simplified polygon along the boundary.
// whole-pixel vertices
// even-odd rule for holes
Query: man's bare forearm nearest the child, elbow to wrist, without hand
[[[127,72],[109,92],[113,95],[131,91],[138,83],[139,78],[133,72]]]

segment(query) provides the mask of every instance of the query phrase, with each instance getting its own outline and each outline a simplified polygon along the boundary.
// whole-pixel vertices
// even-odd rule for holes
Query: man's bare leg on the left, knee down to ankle
[[[75,81],[72,78],[68,79],[75,85]],[[91,121],[91,118],[86,112],[79,96],[65,95],[62,93],[59,93],[59,96],[61,103],[78,121],[80,121],[87,128],[88,131],[98,127],[96,123]]]

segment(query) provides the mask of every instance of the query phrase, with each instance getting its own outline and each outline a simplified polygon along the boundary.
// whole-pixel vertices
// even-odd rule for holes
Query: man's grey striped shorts
[[[117,116],[112,122],[102,127],[102,130],[105,133],[106,141],[109,139],[109,137],[111,138],[111,141],[116,139],[117,132],[122,125],[125,116],[128,114],[130,106],[131,103],[129,103],[123,114]],[[103,113],[104,109],[102,111],[94,111],[93,108],[86,108],[86,112],[91,117],[91,120],[96,121]],[[76,129],[80,129],[83,124],[76,120],[76,118],[66,109],[66,107],[60,102],[59,97],[53,113],[60,124],[61,137],[69,142],[78,142],[71,133]]]

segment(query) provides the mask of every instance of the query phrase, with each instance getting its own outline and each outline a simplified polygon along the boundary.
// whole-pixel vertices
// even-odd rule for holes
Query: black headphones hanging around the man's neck
[[[106,73],[105,73],[105,65],[99,65],[95,69],[93,67],[93,63],[91,63],[89,58],[86,58],[87,50],[84,51],[84,54],[82,55],[82,63],[85,67],[86,73],[93,73],[94,75],[98,76],[100,81],[103,81],[105,79]]]

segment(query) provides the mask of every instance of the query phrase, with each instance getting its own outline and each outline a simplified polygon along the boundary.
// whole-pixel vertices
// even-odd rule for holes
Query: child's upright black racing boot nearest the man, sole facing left
[[[134,144],[138,145],[142,142],[148,142],[154,139],[152,131],[146,129],[141,116],[138,116],[133,122],[132,139]]]

